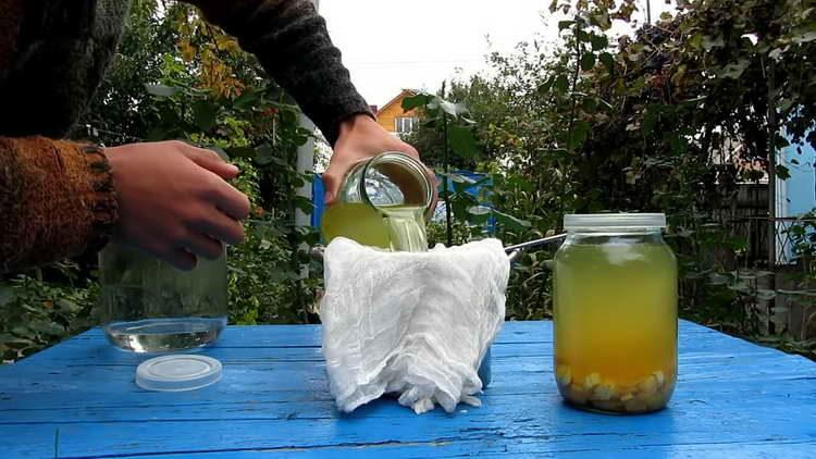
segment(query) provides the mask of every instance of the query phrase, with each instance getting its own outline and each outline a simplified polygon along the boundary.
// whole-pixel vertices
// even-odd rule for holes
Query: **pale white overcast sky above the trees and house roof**
[[[644,3],[641,0],[640,3]],[[457,69],[486,69],[491,51],[554,40],[549,0],[321,0],[320,13],[357,89],[383,106],[403,88],[435,91]],[[653,18],[670,7],[652,0]],[[645,13],[635,13],[641,18]]]

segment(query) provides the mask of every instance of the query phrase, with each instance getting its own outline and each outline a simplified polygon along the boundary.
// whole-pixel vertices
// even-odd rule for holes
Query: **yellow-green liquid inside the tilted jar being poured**
[[[426,251],[424,208],[338,202],[323,214],[323,239],[346,237],[363,246],[394,251]]]

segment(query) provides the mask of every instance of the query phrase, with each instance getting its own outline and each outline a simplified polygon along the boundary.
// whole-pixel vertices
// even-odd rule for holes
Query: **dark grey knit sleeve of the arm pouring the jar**
[[[360,113],[373,117],[311,0],[186,1],[255,53],[331,145],[343,120]]]

